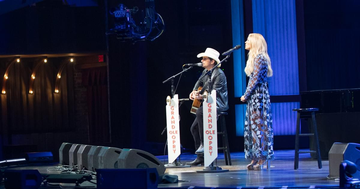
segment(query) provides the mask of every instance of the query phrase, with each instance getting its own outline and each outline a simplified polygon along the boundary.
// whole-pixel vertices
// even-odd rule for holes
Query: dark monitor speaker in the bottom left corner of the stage
[[[11,170],[4,171],[6,189],[37,189],[41,185],[41,175],[38,170]]]

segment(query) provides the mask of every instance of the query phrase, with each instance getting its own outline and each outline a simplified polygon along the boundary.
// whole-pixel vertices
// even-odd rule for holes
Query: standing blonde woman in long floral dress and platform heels
[[[249,50],[245,73],[249,76],[242,102],[247,102],[244,125],[245,159],[251,159],[248,170],[262,170],[274,158],[273,120],[267,77],[273,75],[264,37],[251,33],[245,42]]]

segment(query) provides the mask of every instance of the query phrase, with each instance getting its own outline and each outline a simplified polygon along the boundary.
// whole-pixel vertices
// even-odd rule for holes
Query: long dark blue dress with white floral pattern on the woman
[[[274,159],[273,119],[267,85],[267,60],[257,55],[244,94],[247,100],[244,125],[245,159]]]

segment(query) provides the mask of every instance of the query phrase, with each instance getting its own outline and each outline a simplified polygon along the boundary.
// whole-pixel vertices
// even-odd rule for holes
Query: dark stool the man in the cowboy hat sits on
[[[220,132],[217,132],[217,134],[221,135],[222,138],[222,147],[218,147],[217,149],[224,150],[225,164],[231,165],[228,132],[226,131],[226,124],[225,124],[225,115],[227,115],[228,112],[219,112],[217,114],[218,114],[217,123],[220,125]]]

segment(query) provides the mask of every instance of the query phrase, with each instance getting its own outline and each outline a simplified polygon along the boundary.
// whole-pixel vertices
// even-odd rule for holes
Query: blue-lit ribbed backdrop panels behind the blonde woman
[[[243,1],[231,1],[233,19],[233,43],[244,44],[243,40]],[[298,57],[296,35],[295,0],[252,0],[253,32],[261,33],[267,41],[273,77],[269,78],[270,95],[298,95]],[[238,24],[240,26],[238,26]],[[240,34],[240,35],[239,35]],[[240,37],[240,39],[237,39]],[[246,87],[246,56],[234,54],[235,97],[243,95]],[[240,84],[241,83],[241,84]],[[294,135],[296,114],[293,108],[300,107],[299,102],[272,103],[274,135]],[[235,106],[236,133],[243,136],[246,105]]]

